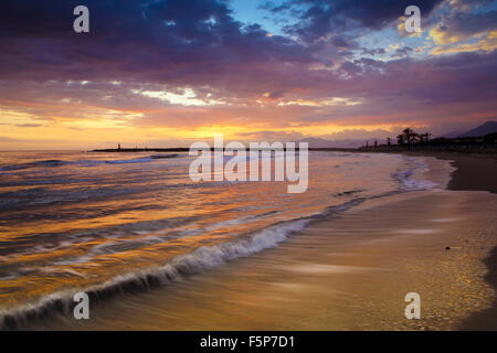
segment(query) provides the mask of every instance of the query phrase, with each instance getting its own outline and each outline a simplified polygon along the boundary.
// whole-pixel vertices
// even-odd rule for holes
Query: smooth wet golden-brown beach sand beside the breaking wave
[[[445,185],[446,167],[429,164]],[[367,201],[277,248],[97,303],[88,321],[34,329],[491,329],[495,271],[484,259],[497,245],[497,195],[442,189]],[[404,317],[408,292],[421,296],[421,320]]]

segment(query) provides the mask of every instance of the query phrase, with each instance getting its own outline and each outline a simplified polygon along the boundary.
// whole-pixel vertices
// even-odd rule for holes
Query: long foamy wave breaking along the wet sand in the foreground
[[[276,247],[290,235],[302,232],[310,222],[331,213],[346,211],[364,200],[356,199],[338,206],[330,206],[320,214],[282,222],[243,238],[213,246],[202,246],[189,254],[177,256],[162,266],[119,275],[102,285],[49,295],[36,303],[0,312],[0,330],[21,329],[30,321],[42,320],[55,313],[68,314],[75,304],[73,297],[76,292],[84,291],[88,295],[91,302],[96,302],[119,293],[161,287],[183,276],[209,270],[236,258]]]

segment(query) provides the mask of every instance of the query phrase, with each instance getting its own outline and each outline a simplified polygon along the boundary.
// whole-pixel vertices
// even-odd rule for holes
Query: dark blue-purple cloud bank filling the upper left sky
[[[91,32],[73,31],[73,9],[89,9]],[[310,53],[258,25],[235,21],[224,2],[0,1],[0,74],[9,78],[123,77],[208,84],[221,69],[310,62]],[[211,74],[210,74],[211,73]]]

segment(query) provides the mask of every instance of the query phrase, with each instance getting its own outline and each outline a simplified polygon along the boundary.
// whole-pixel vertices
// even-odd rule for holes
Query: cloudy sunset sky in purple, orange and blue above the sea
[[[0,0],[0,150],[465,131],[496,47],[487,0]]]

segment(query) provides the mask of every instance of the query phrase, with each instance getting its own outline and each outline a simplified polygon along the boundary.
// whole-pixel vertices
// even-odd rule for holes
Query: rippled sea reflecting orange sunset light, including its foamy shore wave
[[[187,153],[0,152],[0,319],[230,266],[309,222],[382,195],[433,188],[422,160],[309,152],[309,186],[192,182]]]

